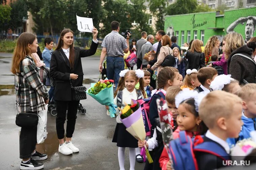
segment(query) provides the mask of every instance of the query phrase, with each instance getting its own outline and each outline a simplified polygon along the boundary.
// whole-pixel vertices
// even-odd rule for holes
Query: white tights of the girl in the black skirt
[[[124,151],[125,147],[118,147],[118,162],[120,170],[124,169]],[[135,148],[129,148],[130,170],[134,170],[135,166]]]

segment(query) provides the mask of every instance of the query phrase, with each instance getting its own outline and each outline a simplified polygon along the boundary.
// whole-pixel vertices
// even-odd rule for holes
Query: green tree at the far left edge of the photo
[[[8,5],[0,5],[0,31],[7,30],[7,24],[11,20],[11,7]]]

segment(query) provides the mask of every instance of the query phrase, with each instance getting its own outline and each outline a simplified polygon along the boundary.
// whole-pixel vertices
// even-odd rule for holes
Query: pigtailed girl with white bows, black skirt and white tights
[[[135,89],[135,84],[140,83],[139,90],[143,98],[146,97],[146,92],[144,90],[143,76],[144,72],[142,70],[123,70],[120,72],[120,79],[118,83],[117,90],[114,94],[114,104],[121,105],[123,108],[126,104],[131,103],[131,99],[137,100],[137,92]],[[122,92],[122,103],[118,103],[117,96]],[[108,110],[109,107],[106,106]],[[138,147],[138,140],[136,140],[128,131],[126,127],[120,121],[120,115],[117,116],[117,125],[114,133],[112,142],[117,143],[118,146],[118,162],[120,170],[124,170],[124,160],[125,160],[125,148],[129,148],[129,158],[130,158],[130,170],[134,170],[135,166],[135,148]]]

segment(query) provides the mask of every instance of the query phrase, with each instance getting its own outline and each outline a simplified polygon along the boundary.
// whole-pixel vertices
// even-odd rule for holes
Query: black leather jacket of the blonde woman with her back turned
[[[188,69],[197,69],[205,66],[205,58],[204,53],[198,53],[194,51],[194,53],[191,53],[190,50],[186,54],[186,58],[188,59]]]

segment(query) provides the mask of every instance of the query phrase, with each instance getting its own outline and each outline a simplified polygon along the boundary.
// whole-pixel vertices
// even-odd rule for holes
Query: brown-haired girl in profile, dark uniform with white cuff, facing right
[[[138,146],[140,148],[146,145],[148,149],[154,149],[152,152],[150,152],[150,155],[154,163],[149,164],[147,161],[144,167],[144,170],[161,170],[158,160],[163,151],[163,141],[162,141],[162,133],[159,132],[159,130],[157,130],[160,127],[156,128],[157,126],[156,126],[155,119],[158,118],[156,99],[160,99],[160,98],[165,99],[166,90],[169,87],[171,86],[179,87],[179,84],[180,84],[179,75],[180,74],[177,68],[164,67],[157,76],[157,86],[159,89],[152,96],[152,100],[150,102],[150,112],[149,112],[150,123],[152,124],[151,138],[148,141],[146,140],[138,141]]]

